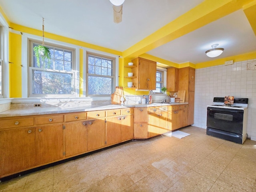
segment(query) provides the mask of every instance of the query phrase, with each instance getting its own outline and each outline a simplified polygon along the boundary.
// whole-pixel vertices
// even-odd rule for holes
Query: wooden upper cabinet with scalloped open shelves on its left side
[[[135,58],[132,60],[136,68],[132,68],[132,72],[137,78],[133,78],[133,85],[138,89],[155,90],[156,89],[156,62]]]

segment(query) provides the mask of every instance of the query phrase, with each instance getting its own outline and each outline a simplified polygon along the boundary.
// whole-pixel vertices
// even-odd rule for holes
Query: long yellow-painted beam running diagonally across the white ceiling
[[[122,56],[128,59],[136,58],[210,22],[242,9],[243,6],[253,1],[255,0],[205,0],[122,52]]]

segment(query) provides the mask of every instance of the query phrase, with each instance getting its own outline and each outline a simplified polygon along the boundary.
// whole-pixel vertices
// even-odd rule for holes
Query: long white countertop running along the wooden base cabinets
[[[29,116],[29,115],[44,115],[44,114],[58,114],[58,113],[72,113],[72,112],[86,112],[96,110],[110,110],[122,109],[130,107],[155,107],[155,106],[168,106],[180,105],[188,103],[152,103],[152,104],[128,104],[128,105],[89,105],[89,106],[63,106],[63,107],[40,107],[40,108],[20,108],[10,109],[0,113],[0,117],[13,117],[13,116]]]

